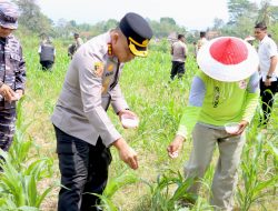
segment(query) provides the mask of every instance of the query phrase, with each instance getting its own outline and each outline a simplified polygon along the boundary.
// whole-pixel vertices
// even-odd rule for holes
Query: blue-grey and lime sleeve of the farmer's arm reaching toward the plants
[[[206,94],[206,88],[199,77],[195,77],[189,93],[189,102],[181,117],[177,134],[188,138],[197,123],[201,105]]]

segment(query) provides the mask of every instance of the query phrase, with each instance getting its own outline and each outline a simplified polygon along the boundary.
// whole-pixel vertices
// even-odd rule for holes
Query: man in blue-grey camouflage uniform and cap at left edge
[[[0,2],[0,148],[8,151],[14,134],[16,101],[24,91],[26,66],[19,41],[11,34],[18,28],[18,8]]]

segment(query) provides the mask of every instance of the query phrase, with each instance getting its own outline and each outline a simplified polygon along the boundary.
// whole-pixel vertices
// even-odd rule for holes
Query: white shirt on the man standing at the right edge
[[[258,56],[259,56],[260,74],[262,77],[262,81],[266,81],[266,77],[270,68],[270,58],[274,56],[278,56],[277,46],[275,41],[268,36],[266,36],[260,41]],[[276,66],[275,72],[272,73],[272,78],[270,81],[277,81],[277,77],[278,77],[278,66]]]

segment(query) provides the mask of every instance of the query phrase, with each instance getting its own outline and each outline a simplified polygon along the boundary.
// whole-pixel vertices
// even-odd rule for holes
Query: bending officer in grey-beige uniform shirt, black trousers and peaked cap
[[[127,13],[117,29],[100,34],[80,47],[68,69],[61,94],[52,114],[61,172],[59,211],[100,210],[111,162],[109,147],[131,169],[138,168],[131,149],[107,115],[115,112],[135,115],[118,83],[125,62],[147,57],[152,31],[136,13]]]

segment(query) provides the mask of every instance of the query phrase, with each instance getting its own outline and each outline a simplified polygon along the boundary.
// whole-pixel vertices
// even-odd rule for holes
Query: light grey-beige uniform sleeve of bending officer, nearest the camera
[[[103,144],[109,147],[113,141],[121,138],[121,135],[101,105],[101,74],[103,72],[97,72],[95,70],[95,64],[99,61],[86,53],[80,53],[79,58],[75,59],[79,69],[80,91],[85,114],[92,127],[99,132]]]

